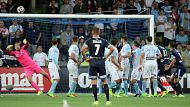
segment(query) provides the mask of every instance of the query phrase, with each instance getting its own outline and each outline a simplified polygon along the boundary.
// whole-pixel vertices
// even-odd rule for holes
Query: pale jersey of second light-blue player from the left
[[[71,45],[69,48],[69,56],[71,56],[72,53],[75,55],[75,59],[78,60],[79,59],[79,48],[75,44]],[[71,62],[75,63],[73,60],[71,60]]]

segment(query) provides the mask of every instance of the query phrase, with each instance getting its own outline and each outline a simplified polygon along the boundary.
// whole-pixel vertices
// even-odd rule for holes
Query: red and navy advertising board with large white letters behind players
[[[46,72],[48,72],[47,68],[43,68]],[[72,79],[69,78],[68,70],[64,67],[60,71],[60,82],[57,86],[56,92],[67,92],[69,90],[69,85],[72,82]],[[81,67],[79,69],[79,81],[77,92],[87,93],[91,91],[91,81],[88,79],[88,68]],[[13,85],[13,92],[36,92],[34,88],[32,88],[25,78],[25,73],[23,72],[23,68],[0,68],[0,76],[2,82],[2,91],[8,92],[6,87],[8,85]],[[33,81],[37,83],[41,90],[47,92],[50,88],[50,82],[44,78],[41,74],[33,74]],[[161,81],[163,85],[170,91],[172,88],[168,85],[165,78],[162,78]],[[190,68],[187,68],[187,73],[183,76],[180,81],[183,87],[184,92],[190,92]]]

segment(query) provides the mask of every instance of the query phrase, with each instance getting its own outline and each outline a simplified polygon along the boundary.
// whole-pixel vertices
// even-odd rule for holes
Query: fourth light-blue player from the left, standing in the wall
[[[120,51],[119,62],[121,62],[121,67],[123,68],[123,83],[124,83],[124,96],[128,96],[128,77],[130,71],[129,57],[131,57],[131,46],[127,42],[127,36],[121,37],[122,49]]]

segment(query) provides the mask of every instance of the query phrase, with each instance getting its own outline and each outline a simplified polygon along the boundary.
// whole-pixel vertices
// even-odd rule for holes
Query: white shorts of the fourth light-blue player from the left
[[[130,63],[124,63],[121,64],[121,67],[123,68],[123,79],[128,79],[129,78],[129,71],[130,71]]]

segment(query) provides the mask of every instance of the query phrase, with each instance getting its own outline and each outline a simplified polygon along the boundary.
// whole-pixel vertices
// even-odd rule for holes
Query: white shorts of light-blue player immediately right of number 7
[[[110,66],[110,77],[111,81],[119,80],[122,78],[123,73],[119,71],[116,67]]]

